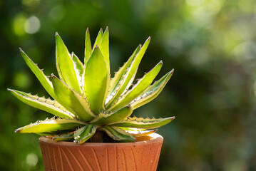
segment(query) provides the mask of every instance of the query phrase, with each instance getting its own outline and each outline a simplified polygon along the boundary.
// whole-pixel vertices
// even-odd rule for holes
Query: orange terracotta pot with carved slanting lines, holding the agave
[[[45,170],[156,170],[163,137],[156,133],[137,142],[56,142],[39,138]]]

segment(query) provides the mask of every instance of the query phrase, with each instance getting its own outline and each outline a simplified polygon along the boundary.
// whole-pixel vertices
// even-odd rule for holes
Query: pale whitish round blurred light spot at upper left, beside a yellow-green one
[[[39,31],[40,26],[39,19],[36,16],[31,16],[26,20],[24,28],[26,33],[33,34]]]

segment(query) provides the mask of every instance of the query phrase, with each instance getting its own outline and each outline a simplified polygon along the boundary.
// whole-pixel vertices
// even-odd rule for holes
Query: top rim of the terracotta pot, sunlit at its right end
[[[56,141],[51,140],[51,138],[46,138],[45,136],[41,136],[39,138],[40,143],[47,143],[47,144],[55,144],[55,145],[66,145],[66,146],[123,146],[123,145],[143,145],[147,143],[154,143],[163,141],[163,137],[158,133],[152,133],[150,135],[146,135],[144,137],[139,137],[138,141],[136,142],[84,142],[83,144],[79,145],[76,142],[66,142],[66,141]]]

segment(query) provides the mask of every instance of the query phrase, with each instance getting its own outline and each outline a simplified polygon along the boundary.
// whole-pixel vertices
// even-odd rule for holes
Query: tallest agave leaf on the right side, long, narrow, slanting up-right
[[[138,69],[138,66],[140,64],[141,59],[143,58],[145,50],[148,48],[149,42],[150,42],[150,37],[145,41],[142,48],[140,48],[140,51],[135,55],[135,58],[133,58],[133,61],[131,61],[129,67],[126,68],[126,73],[121,76],[122,78],[118,82],[118,86],[115,89],[116,92],[113,95],[113,98],[106,105],[106,108],[108,109],[111,108],[111,106],[118,101],[118,98],[122,95],[123,91],[126,90],[128,83],[130,83],[131,79],[134,76],[134,73]]]

